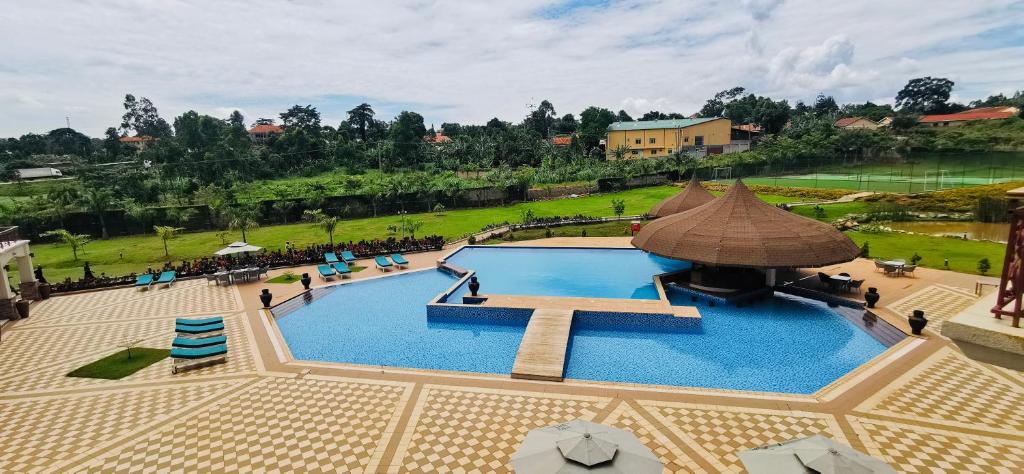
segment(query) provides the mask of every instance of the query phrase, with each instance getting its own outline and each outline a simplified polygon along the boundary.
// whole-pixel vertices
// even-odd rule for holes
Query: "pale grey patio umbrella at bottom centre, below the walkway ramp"
[[[628,431],[585,420],[530,431],[512,455],[517,473],[660,473],[664,465]]]

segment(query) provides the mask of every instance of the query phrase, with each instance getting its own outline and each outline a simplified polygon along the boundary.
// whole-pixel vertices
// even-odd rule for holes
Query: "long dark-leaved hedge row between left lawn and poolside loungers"
[[[393,253],[424,252],[430,250],[440,250],[444,246],[444,238],[440,235],[428,235],[425,238],[388,238],[386,240],[374,239],[359,242],[349,241],[347,244],[311,245],[302,249],[296,248],[290,242],[286,243],[285,249],[273,251],[247,252],[237,255],[225,255],[218,257],[203,257],[191,261],[182,261],[175,265],[172,262],[164,264],[163,268],[154,269],[150,267],[146,273],[160,273],[161,271],[174,270],[178,277],[198,276],[203,274],[216,273],[220,270],[230,270],[236,268],[251,267],[286,267],[307,265],[322,262],[324,254],[327,252],[340,253],[350,251],[357,258],[374,257],[377,255],[389,255]],[[136,273],[124,276],[108,276],[100,273],[93,274],[89,263],[83,267],[84,275],[77,282],[70,277],[63,282],[51,285],[53,293],[73,292],[79,290],[92,290],[98,288],[110,288],[122,285],[130,285],[135,282]],[[42,276],[42,268],[37,268],[36,279],[45,282]]]

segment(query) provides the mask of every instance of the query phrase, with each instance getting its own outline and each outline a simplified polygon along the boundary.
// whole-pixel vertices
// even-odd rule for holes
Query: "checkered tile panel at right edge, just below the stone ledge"
[[[949,348],[893,382],[859,412],[965,428],[1024,432],[1024,388]],[[927,410],[922,410],[925,406]]]

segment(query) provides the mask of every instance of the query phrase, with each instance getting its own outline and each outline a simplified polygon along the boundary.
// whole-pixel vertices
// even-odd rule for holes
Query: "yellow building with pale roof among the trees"
[[[626,152],[627,159],[664,158],[679,149],[722,153],[731,138],[729,119],[615,122],[608,126],[605,149],[608,160],[614,160],[620,148]]]

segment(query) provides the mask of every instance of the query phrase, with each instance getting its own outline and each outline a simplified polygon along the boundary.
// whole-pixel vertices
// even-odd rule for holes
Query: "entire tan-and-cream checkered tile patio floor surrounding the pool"
[[[0,342],[0,471],[502,472],[529,429],[575,418],[633,431],[669,472],[739,472],[738,450],[814,433],[905,472],[1024,471],[1024,377],[934,335],[827,396],[519,381],[282,361],[258,311],[263,286],[35,304]],[[927,288],[905,304],[932,301]],[[228,363],[65,377],[125,339],[166,347],[181,314],[225,316]]]

